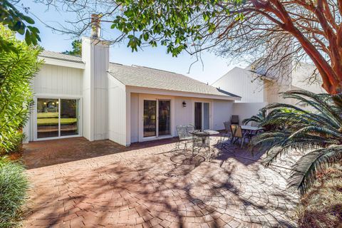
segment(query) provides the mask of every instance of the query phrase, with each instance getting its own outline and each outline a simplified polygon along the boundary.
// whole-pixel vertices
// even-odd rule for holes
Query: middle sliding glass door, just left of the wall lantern
[[[144,138],[171,135],[170,110],[170,100],[144,100]]]

